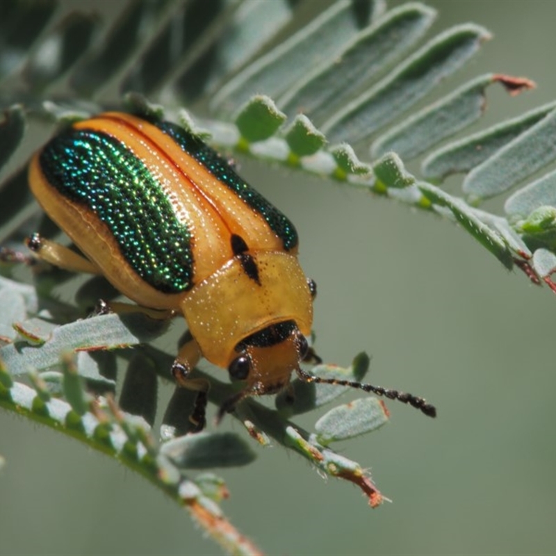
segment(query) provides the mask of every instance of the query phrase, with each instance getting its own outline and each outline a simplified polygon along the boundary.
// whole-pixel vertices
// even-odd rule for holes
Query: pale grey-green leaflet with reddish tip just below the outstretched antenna
[[[339,405],[323,415],[315,425],[317,440],[322,445],[371,432],[388,421],[384,402],[377,398],[360,398]]]

